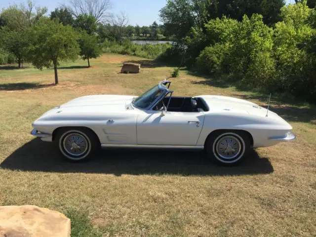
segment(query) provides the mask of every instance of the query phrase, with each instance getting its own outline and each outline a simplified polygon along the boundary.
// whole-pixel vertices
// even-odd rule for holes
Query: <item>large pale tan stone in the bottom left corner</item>
[[[0,237],[70,237],[70,219],[38,206],[0,206]]]

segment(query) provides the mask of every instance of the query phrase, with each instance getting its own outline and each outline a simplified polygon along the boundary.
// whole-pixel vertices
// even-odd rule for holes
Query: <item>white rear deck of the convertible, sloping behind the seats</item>
[[[204,99],[209,107],[210,112],[231,112],[266,117],[268,111],[266,108],[263,108],[250,101],[228,96],[200,95],[197,97]],[[273,118],[285,122],[283,118],[279,117],[276,113],[272,111],[268,112],[268,118]]]

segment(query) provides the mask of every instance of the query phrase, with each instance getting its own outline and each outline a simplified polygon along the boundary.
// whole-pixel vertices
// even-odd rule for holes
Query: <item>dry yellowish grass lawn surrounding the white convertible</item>
[[[127,60],[141,62],[142,72],[118,74]],[[73,236],[316,236],[315,107],[274,99],[271,110],[291,123],[297,141],[257,149],[237,167],[216,166],[193,151],[109,150],[73,164],[30,135],[32,121],[83,95],[138,95],[173,71],[114,54],[86,65],[62,64],[57,86],[51,69],[0,66],[0,205],[66,213]],[[187,71],[172,81],[175,95],[267,105],[267,95],[215,86]]]

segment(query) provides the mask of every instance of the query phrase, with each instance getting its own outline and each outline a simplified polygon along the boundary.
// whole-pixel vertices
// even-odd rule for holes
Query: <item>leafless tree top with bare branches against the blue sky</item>
[[[111,6],[111,0],[70,0],[70,5],[64,5],[73,16],[93,16],[98,23],[106,21],[110,17],[108,11]]]

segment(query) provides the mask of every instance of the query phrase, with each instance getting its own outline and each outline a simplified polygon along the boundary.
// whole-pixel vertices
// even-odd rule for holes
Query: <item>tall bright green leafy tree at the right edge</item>
[[[312,53],[316,29],[311,24],[314,14],[315,9],[305,1],[282,7],[283,20],[276,23],[274,46],[280,90],[310,100],[316,98],[316,58]]]

